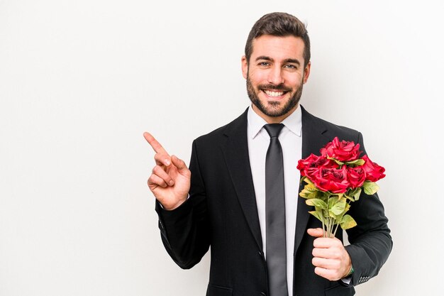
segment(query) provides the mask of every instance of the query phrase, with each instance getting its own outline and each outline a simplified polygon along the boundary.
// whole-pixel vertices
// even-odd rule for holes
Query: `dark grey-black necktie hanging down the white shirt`
[[[285,241],[284,160],[279,133],[283,124],[265,124],[270,146],[265,159],[265,224],[270,296],[288,296]]]

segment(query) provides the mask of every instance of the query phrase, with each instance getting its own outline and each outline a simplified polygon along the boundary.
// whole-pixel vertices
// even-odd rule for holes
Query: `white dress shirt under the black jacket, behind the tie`
[[[265,258],[265,156],[270,145],[270,136],[263,126],[267,122],[252,110],[248,109],[248,154],[253,185],[256,193],[257,214],[259,215],[260,232]],[[285,190],[285,230],[287,241],[287,285],[289,295],[293,295],[293,252],[296,231],[296,207],[299,198],[299,180],[301,175],[296,168],[302,155],[302,113],[301,107],[290,114],[284,121],[284,128],[279,134],[279,142],[284,156],[284,190]]]

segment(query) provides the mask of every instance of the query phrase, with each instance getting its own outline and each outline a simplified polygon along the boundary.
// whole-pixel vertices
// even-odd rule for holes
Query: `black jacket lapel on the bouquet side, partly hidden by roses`
[[[324,133],[327,131],[326,126],[322,124],[320,119],[309,114],[304,107],[301,106],[302,111],[302,158],[308,157],[311,153],[318,154],[319,150],[326,145],[328,141],[327,136]],[[299,184],[299,192],[304,189],[304,185]],[[294,253],[302,241],[302,238],[306,234],[306,226],[309,222],[312,207],[309,207],[305,203],[305,199],[298,196],[298,207],[296,215],[296,236],[294,239]]]

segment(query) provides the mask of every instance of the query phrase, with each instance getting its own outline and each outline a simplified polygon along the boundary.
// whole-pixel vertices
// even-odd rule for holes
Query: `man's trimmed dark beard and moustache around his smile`
[[[294,92],[293,96],[290,97],[290,99],[284,104],[284,106],[281,106],[281,102],[269,102],[270,106],[265,106],[260,102],[259,96],[257,92],[255,91],[255,88],[251,84],[250,75],[247,73],[247,93],[248,97],[250,97],[250,101],[252,104],[254,104],[257,109],[259,109],[263,114],[270,116],[270,117],[279,117],[287,114],[289,111],[291,111],[294,106],[296,106],[299,103],[299,100],[301,99],[302,95],[302,89],[303,89],[304,83],[301,81],[301,86],[296,89],[296,92]],[[285,87],[284,84],[279,85],[273,85],[273,84],[260,84],[257,86],[258,92],[260,92],[260,89],[270,89],[270,90],[277,90],[282,92],[291,92],[292,89],[289,87]]]

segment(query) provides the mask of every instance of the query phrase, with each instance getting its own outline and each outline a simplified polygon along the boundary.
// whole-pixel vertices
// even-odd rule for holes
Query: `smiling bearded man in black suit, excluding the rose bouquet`
[[[354,295],[353,286],[377,275],[389,256],[392,239],[376,194],[350,208],[357,226],[346,247],[340,231],[321,237],[320,222],[296,194],[303,187],[297,160],[318,154],[335,136],[364,149],[359,132],[299,105],[310,66],[305,26],[287,13],[262,16],[242,58],[247,111],[197,138],[189,169],[144,134],[156,152],[148,186],[167,252],[181,268],[192,268],[211,246],[206,295]],[[276,151],[280,156],[269,161]]]

